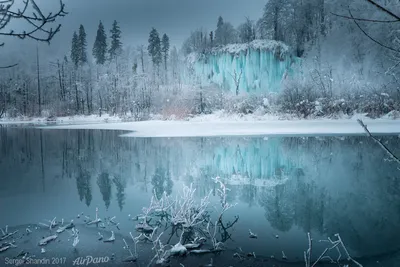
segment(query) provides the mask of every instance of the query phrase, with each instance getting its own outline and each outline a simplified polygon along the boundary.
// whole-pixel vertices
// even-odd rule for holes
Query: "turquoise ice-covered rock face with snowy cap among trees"
[[[183,79],[188,84],[216,84],[235,92],[240,77],[239,92],[277,92],[282,81],[292,73],[295,62],[296,57],[284,43],[255,40],[189,54]]]

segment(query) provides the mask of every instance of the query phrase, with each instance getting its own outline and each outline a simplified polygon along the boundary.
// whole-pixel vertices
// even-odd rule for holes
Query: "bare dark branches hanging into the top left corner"
[[[36,4],[34,0],[23,0],[22,9],[16,8],[15,0],[0,0],[0,36],[17,37],[19,39],[33,39],[40,42],[50,42],[51,39],[58,33],[61,29],[61,24],[57,25],[55,29],[48,27],[56,21],[57,18],[63,17],[67,14],[64,8],[65,5],[60,0],[60,8],[57,12],[49,12],[48,14],[43,14],[42,9]],[[16,9],[16,10],[15,10]],[[33,12],[31,15],[31,10]],[[11,21],[18,20],[25,22],[29,31],[14,31],[8,29]],[[4,46],[4,42],[0,43],[0,47]],[[4,66],[0,68],[11,68],[17,64]]]

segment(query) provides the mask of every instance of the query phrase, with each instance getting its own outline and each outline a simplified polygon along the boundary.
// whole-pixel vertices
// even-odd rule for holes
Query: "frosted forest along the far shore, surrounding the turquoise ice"
[[[26,3],[19,10],[14,1],[1,1],[2,46],[9,38],[50,42],[62,31],[61,25],[55,30],[48,25],[68,16],[68,3],[61,2],[48,16],[34,1],[31,7]],[[398,1],[269,0],[261,8],[262,17],[245,17],[240,25],[221,16],[214,29],[199,25],[181,47],[171,46],[171,36],[156,28],[149,29],[147,43],[132,46],[123,43],[128,29],[118,20],[112,25],[100,21],[97,32],[86,32],[82,24],[63,58],[46,62],[37,49],[34,62],[0,64],[0,118],[110,114],[125,120],[185,119],[221,110],[300,118],[400,116]],[[33,17],[24,13],[28,9]],[[32,31],[10,29],[8,22],[18,19]],[[95,36],[94,43],[88,43],[88,35]],[[300,62],[293,66],[294,75],[282,77],[278,92],[226,90],[183,75],[193,54],[259,40],[287,45]],[[239,84],[241,74],[235,71],[227,79]]]

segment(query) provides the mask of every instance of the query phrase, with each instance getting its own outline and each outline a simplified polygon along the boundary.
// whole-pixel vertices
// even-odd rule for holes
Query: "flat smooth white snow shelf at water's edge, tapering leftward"
[[[365,119],[375,134],[399,134],[397,120]],[[126,130],[129,137],[197,137],[197,136],[264,136],[264,135],[349,135],[364,134],[355,119],[296,121],[144,121],[60,125],[46,129]]]

